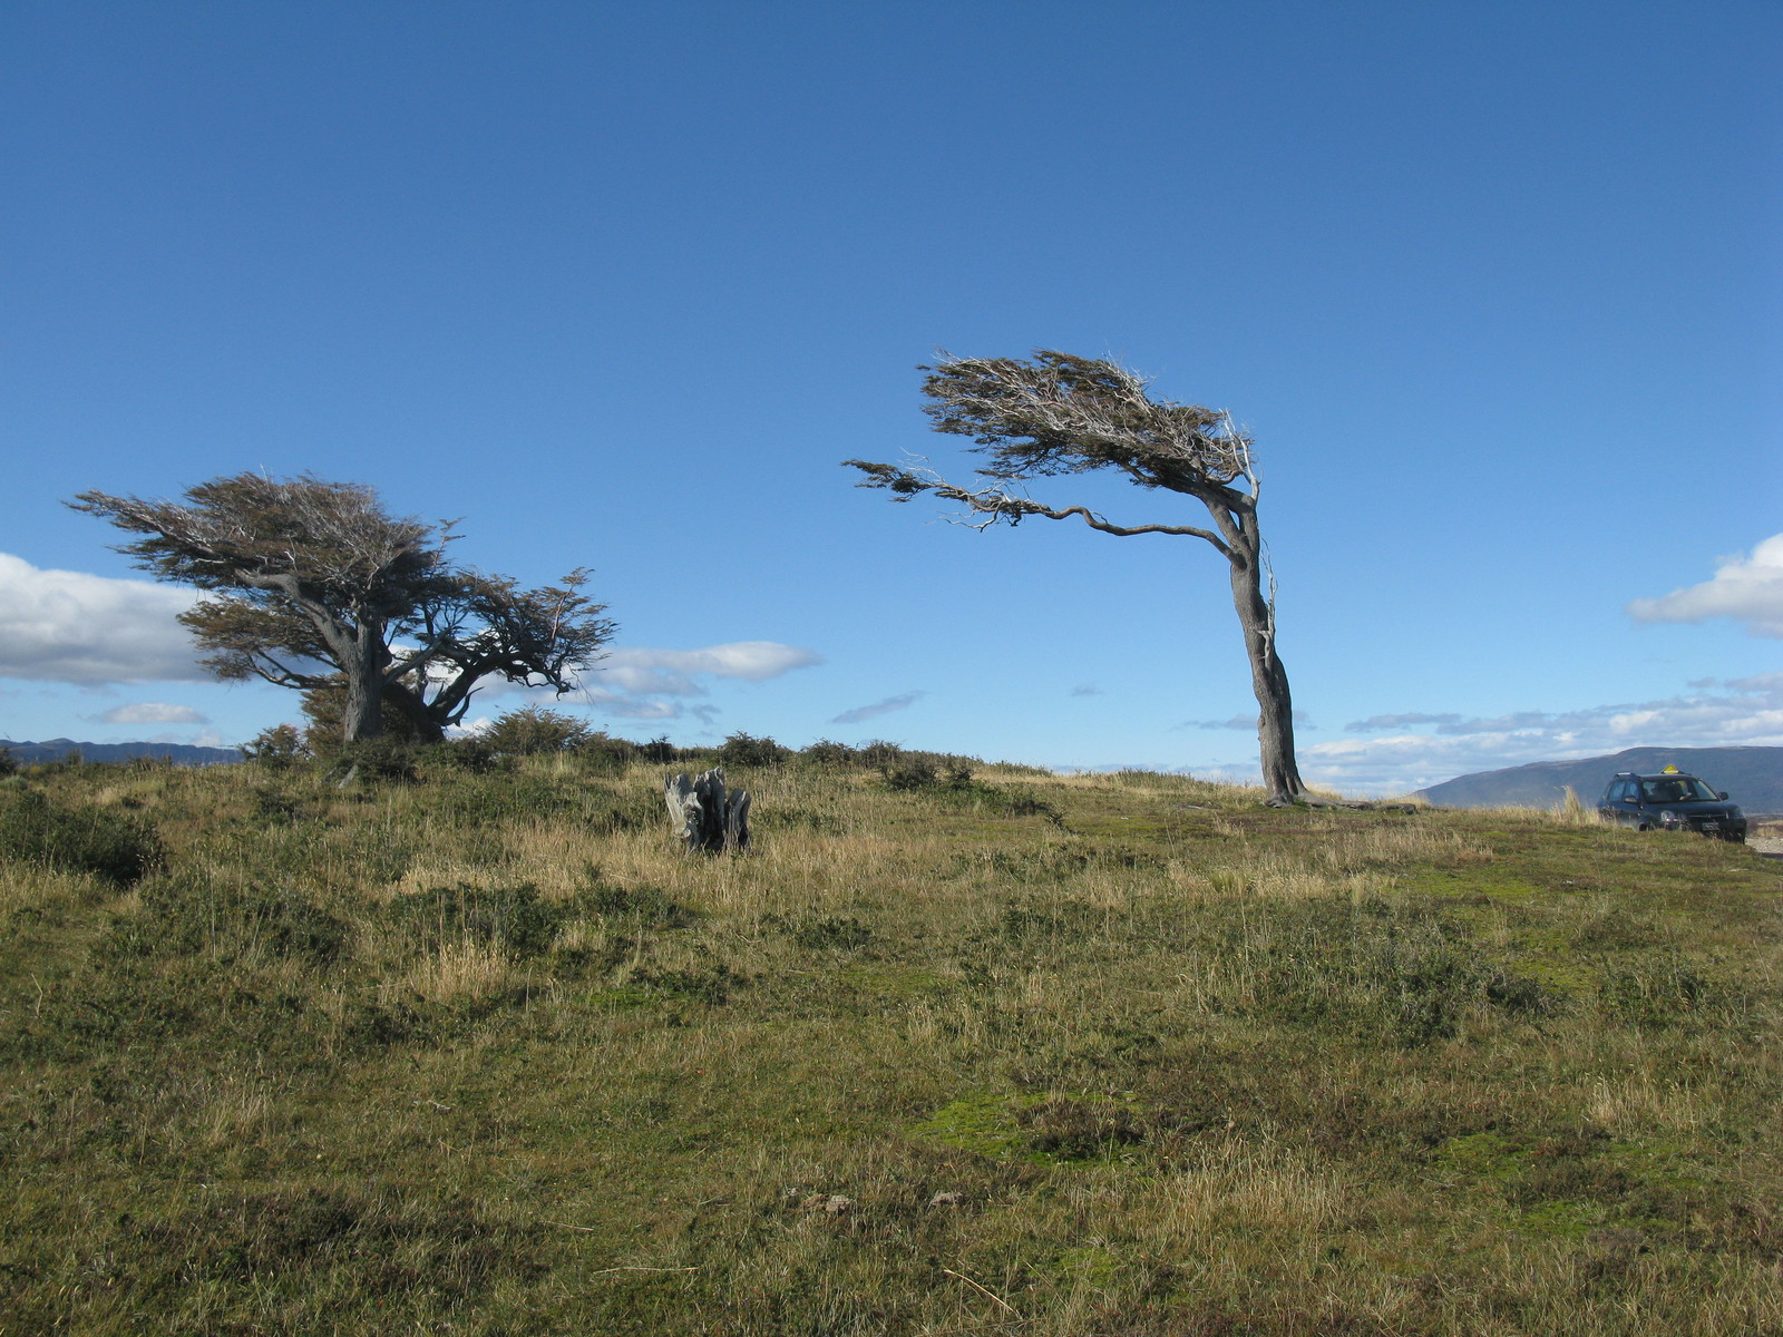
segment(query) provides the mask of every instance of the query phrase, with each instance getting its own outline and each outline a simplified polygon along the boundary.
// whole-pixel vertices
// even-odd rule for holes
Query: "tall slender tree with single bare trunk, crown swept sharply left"
[[[1257,528],[1261,488],[1252,440],[1232,424],[1230,414],[1152,399],[1146,381],[1127,367],[1052,349],[1036,349],[1032,360],[941,357],[920,371],[927,373],[922,392],[931,424],[936,431],[972,437],[972,449],[991,460],[977,471],[988,481],[957,487],[927,467],[845,460],[867,474],[859,487],[883,487],[893,501],[933,492],[963,503],[965,522],[979,529],[998,522],[1013,528],[1031,515],[1075,517],[1118,538],[1159,533],[1212,545],[1227,562],[1232,606],[1245,631],[1262,783],[1271,804],[1303,800],[1294,763],[1294,708],[1275,649],[1275,578]],[[1045,506],[1022,487],[1032,478],[1091,469],[1113,469],[1143,488],[1195,497],[1212,517],[1212,528],[1111,524],[1086,506]]]

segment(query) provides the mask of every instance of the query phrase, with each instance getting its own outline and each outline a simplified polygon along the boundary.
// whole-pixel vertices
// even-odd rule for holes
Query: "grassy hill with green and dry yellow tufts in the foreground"
[[[0,1335],[1783,1328],[1756,852],[736,779],[0,783]]]

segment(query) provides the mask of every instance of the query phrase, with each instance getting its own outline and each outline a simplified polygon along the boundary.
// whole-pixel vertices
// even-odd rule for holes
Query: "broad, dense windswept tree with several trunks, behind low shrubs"
[[[218,677],[341,692],[346,742],[378,736],[385,706],[439,740],[490,677],[562,695],[613,635],[581,594],[587,570],[522,590],[458,567],[449,524],[390,515],[358,483],[248,472],[184,503],[82,492],[70,504],[141,535],[118,551],[144,570],[205,592],[180,622]]]

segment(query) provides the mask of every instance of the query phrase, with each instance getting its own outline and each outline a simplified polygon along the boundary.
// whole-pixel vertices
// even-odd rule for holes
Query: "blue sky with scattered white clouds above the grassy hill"
[[[1253,433],[1309,777],[1783,743],[1779,55],[1765,2],[9,4],[0,736],[294,718],[61,504],[264,469],[594,567],[615,733],[1252,772],[1204,544],[838,467],[970,472],[916,364],[1063,348]]]

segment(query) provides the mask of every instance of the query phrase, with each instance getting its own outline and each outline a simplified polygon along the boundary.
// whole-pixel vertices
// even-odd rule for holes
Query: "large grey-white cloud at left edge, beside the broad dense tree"
[[[191,635],[175,622],[198,595],[153,581],[39,570],[0,553],[0,677],[36,683],[193,683]]]

